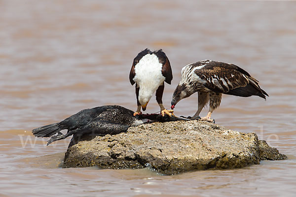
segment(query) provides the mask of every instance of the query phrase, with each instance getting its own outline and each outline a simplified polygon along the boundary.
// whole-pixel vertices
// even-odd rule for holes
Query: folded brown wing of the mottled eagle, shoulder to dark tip
[[[203,85],[216,92],[240,97],[268,96],[259,82],[244,69],[222,62],[210,61],[194,73],[204,81]]]

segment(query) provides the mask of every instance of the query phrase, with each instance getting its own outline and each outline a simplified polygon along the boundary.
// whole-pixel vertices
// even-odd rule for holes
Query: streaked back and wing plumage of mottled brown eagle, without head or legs
[[[240,97],[252,95],[266,99],[258,80],[244,69],[233,64],[204,60],[182,69],[181,84],[192,86],[192,91],[213,91]]]

